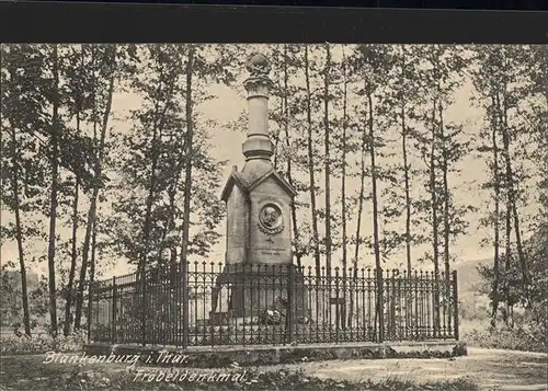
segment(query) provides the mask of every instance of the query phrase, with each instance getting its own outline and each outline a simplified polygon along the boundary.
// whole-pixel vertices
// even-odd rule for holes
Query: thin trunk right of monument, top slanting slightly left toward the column
[[[313,257],[316,265],[316,277],[321,277],[320,264],[320,245],[318,243],[318,216],[316,209],[316,181],[315,181],[315,164],[313,164],[313,140],[312,140],[312,107],[311,107],[311,93],[310,93],[310,74],[308,61],[308,45],[305,45],[305,82],[307,90],[307,125],[308,125],[308,173],[310,179],[310,209],[312,214],[312,240],[313,240]]]

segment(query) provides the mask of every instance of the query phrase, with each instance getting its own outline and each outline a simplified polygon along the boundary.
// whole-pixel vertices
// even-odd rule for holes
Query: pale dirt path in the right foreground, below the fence
[[[486,391],[540,391],[547,388],[547,355],[468,348],[468,356],[448,359],[383,359],[318,361],[286,366],[308,376],[359,381],[387,378],[426,382],[468,377]]]

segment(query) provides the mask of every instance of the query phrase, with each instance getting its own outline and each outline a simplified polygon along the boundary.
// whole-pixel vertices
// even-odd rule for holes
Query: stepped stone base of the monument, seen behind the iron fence
[[[213,313],[230,312],[235,318],[259,317],[270,309],[287,309],[292,294],[294,317],[308,314],[308,290],[302,273],[289,266],[276,265],[230,265],[225,266],[216,280]],[[293,289],[290,290],[290,286]],[[220,295],[219,290],[228,289]],[[212,314],[213,314],[212,313]]]

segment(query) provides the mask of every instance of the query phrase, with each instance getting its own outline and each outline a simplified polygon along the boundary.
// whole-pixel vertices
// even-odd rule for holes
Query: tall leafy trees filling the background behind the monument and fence
[[[83,327],[87,283],[112,260],[127,260],[137,273],[190,257],[210,261],[222,238],[227,164],[212,153],[212,129],[246,131],[246,125],[243,116],[215,124],[203,107],[219,84],[241,90],[252,49],[2,45],[1,238],[16,243],[16,257],[2,256],[2,272],[19,269],[21,278],[21,301],[2,312],[24,333],[45,313],[54,336]],[[298,192],[296,264],[341,266],[346,276],[352,267],[380,271],[399,257],[408,272],[432,266],[436,278],[448,278],[455,241],[469,234],[470,214],[479,214],[491,232],[483,244],[493,262],[482,273],[492,285],[492,324],[499,313],[511,322],[516,306],[541,306],[546,46],[286,44],[261,50],[273,66],[273,161]],[[467,83],[470,106],[482,113],[468,131],[464,119],[447,119]],[[122,93],[138,102],[124,118],[113,105]],[[115,125],[121,120],[129,130]],[[455,197],[452,183],[467,175],[461,162],[470,156],[487,169],[466,170],[489,172],[476,184],[490,197],[481,207]],[[532,205],[537,212],[524,212]],[[60,228],[71,234],[59,234]],[[427,249],[423,256],[413,255],[416,246]],[[47,275],[30,290],[26,273],[38,263]],[[2,281],[2,291],[13,289]]]

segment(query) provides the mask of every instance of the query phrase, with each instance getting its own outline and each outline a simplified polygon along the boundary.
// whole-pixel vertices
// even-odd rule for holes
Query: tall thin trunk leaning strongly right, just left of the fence
[[[111,46],[111,58],[112,61],[114,62],[116,60],[116,48],[114,46]],[[91,202],[90,202],[90,208],[88,209],[88,219],[85,223],[85,234],[83,238],[83,246],[82,246],[82,265],[80,268],[80,279],[78,281],[78,294],[77,294],[77,301],[76,301],[76,310],[75,310],[75,330],[80,329],[81,325],[81,318],[82,318],[82,307],[83,307],[83,290],[84,290],[84,284],[85,284],[85,274],[88,272],[88,258],[89,258],[89,251],[90,251],[90,241],[91,241],[91,234],[92,234],[92,228],[95,226],[95,219],[96,219],[96,208],[98,208],[98,198],[99,198],[99,191],[101,188],[101,175],[102,175],[102,165],[103,165],[103,159],[104,159],[104,148],[105,148],[105,139],[106,139],[106,131],[109,127],[109,117],[111,114],[111,107],[112,107],[112,95],[114,92],[114,80],[115,80],[115,73],[113,71],[111,76],[111,80],[109,82],[109,92],[106,96],[106,106],[103,113],[103,118],[102,118],[102,126],[101,126],[101,136],[100,136],[100,141],[99,141],[99,156],[95,160],[95,179],[94,179],[94,186],[93,186],[93,193],[91,196]],[[96,91],[95,91],[96,93]],[[95,108],[94,108],[95,110]],[[93,118],[94,120],[94,127],[96,127],[96,118]]]

